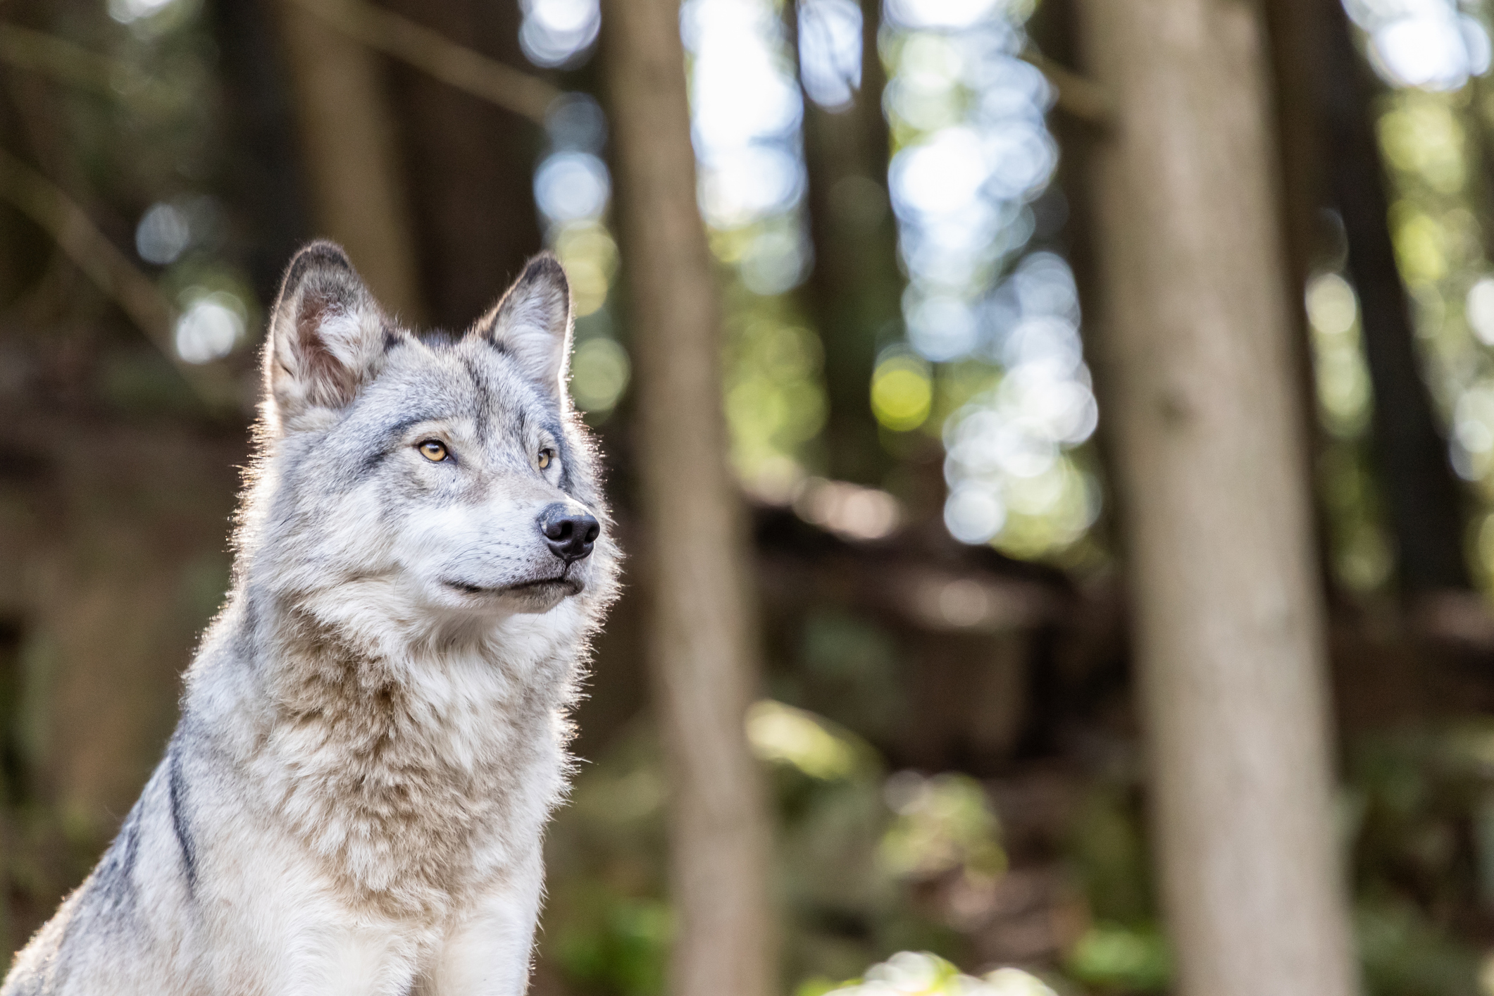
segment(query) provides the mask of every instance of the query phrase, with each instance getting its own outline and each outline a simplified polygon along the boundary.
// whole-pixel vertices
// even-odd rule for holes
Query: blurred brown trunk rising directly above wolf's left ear
[[[420,321],[415,245],[378,57],[296,0],[276,1],[318,233],[342,243],[385,309]]]

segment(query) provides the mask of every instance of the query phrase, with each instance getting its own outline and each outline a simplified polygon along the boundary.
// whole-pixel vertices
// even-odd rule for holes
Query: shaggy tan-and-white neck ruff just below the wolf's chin
[[[571,663],[505,636],[382,660],[314,644],[273,679],[249,768],[350,906],[441,920],[533,847],[563,791]]]

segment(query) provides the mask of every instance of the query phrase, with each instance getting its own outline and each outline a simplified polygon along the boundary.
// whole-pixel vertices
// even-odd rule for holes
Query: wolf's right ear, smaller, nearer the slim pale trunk
[[[544,252],[529,261],[498,306],[477,323],[477,333],[563,402],[571,361],[571,285],[553,255]]]

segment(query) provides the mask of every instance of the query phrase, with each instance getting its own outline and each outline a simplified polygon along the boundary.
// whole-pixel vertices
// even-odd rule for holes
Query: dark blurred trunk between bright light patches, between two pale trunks
[[[786,16],[798,51],[798,4]],[[889,466],[871,414],[877,346],[896,337],[902,276],[887,197],[886,73],[877,54],[881,3],[862,0],[861,88],[850,106],[826,111],[804,93],[804,161],[808,170],[814,269],[805,287],[825,346],[825,426],[829,475],[881,484]]]

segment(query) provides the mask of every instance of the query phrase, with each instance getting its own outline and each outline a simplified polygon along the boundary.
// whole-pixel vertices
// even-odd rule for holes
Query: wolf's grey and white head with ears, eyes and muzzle
[[[569,349],[553,257],[465,334],[417,336],[342,249],[302,249],[264,346],[241,579],[365,632],[481,630],[563,605],[562,629],[584,629],[617,553]]]

